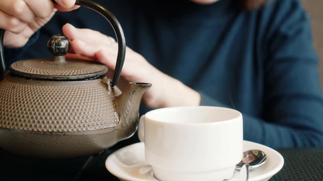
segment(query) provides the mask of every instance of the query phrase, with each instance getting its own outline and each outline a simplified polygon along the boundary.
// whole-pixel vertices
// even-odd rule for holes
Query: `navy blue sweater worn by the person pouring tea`
[[[298,0],[269,1],[251,12],[233,0],[97,2],[119,19],[127,46],[198,91],[201,105],[240,111],[245,140],[271,147],[323,146],[318,60]],[[6,50],[7,64],[50,56],[46,41],[62,33],[65,23],[114,37],[109,23],[93,11],[57,13],[37,43]]]

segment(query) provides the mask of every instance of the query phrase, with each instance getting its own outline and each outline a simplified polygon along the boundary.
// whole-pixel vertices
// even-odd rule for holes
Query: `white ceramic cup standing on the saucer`
[[[222,181],[242,158],[242,115],[233,109],[156,109],[141,116],[138,136],[161,181]]]

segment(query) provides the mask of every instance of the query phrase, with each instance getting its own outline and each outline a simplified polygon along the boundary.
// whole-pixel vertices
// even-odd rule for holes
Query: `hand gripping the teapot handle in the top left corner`
[[[22,47],[57,10],[77,9],[75,0],[0,0],[0,29],[6,30],[4,45]]]

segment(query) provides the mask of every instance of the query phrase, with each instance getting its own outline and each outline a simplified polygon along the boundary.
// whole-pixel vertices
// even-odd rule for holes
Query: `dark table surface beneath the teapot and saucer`
[[[0,180],[117,181],[119,179],[106,170],[104,162],[107,156],[119,148],[120,146],[112,147],[101,154],[92,156],[91,159],[88,159],[89,157],[74,159],[30,158],[0,149]],[[323,180],[323,148],[276,150],[283,155],[285,163],[283,168],[270,179],[271,181]]]

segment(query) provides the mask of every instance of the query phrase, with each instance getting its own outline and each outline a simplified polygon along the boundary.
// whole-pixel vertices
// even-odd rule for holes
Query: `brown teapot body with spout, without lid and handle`
[[[7,76],[0,83],[0,146],[28,156],[77,157],[132,136],[141,96],[150,85],[131,83],[121,93],[109,82]]]

